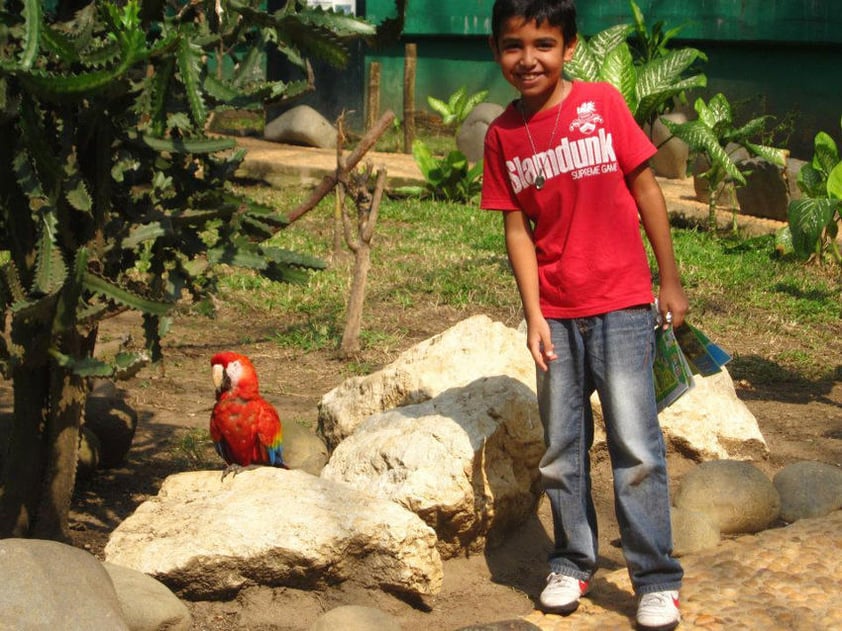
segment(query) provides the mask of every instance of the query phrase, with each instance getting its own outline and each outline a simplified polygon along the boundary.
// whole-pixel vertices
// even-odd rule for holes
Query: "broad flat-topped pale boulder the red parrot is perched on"
[[[435,532],[398,504],[302,471],[259,467],[220,477],[168,477],[112,532],[106,560],[193,599],[228,597],[246,584],[349,579],[412,595],[440,590]]]

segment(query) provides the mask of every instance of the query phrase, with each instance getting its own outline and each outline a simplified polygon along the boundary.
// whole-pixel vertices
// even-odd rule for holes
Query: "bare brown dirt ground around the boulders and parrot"
[[[372,326],[404,331],[400,347],[387,354],[366,354],[361,363],[382,366],[415,343],[444,331],[474,315],[429,305],[400,314],[366,314]],[[484,311],[490,317],[517,326],[519,314]],[[249,342],[243,342],[244,323],[238,314],[223,312],[215,320],[182,316],[165,338],[165,362],[145,368],[121,382],[129,403],[139,415],[139,425],[127,462],[99,471],[78,484],[71,513],[73,544],[102,558],[109,533],[145,499],[157,493],[164,478],[196,468],[221,468],[209,455],[208,445],[197,443],[197,429],[206,429],[213,404],[209,359],[219,350],[232,349],[249,355],[261,377],[261,389],[277,404],[287,422],[315,426],[317,403],[349,374],[346,364],[332,351],[304,352],[279,346],[273,337],[277,319],[250,318]],[[396,322],[395,319],[399,319]],[[388,321],[386,320],[388,319]],[[109,321],[101,339],[118,338],[137,326],[132,316]],[[138,330],[139,331],[139,330]],[[140,333],[136,333],[138,339]],[[717,339],[736,358],[754,356],[767,342],[767,333],[736,331]],[[761,339],[764,338],[764,339]],[[842,353],[830,349],[828,361],[836,366],[836,378],[826,381],[779,379],[751,382],[740,374],[735,361],[731,374],[739,397],[757,418],[771,455],[756,464],[768,475],[782,466],[815,460],[842,466]],[[8,384],[0,383],[6,398]],[[695,463],[670,454],[673,482]],[[594,490],[600,523],[602,567],[623,567],[616,546],[611,476],[605,454],[595,454]],[[542,502],[530,518],[498,548],[485,554],[449,560],[444,566],[441,593],[422,602],[405,602],[394,596],[363,589],[350,583],[328,591],[308,592],[288,588],[252,587],[229,602],[190,602],[194,630],[308,629],[324,612],[345,604],[377,607],[397,618],[405,631],[450,630],[516,618],[534,607],[546,574],[550,549],[549,511]],[[597,575],[599,580],[599,575]],[[629,595],[631,598],[631,595]]]

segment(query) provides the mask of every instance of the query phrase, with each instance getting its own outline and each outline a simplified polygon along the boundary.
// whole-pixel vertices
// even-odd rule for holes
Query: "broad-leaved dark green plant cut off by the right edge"
[[[816,134],[814,147],[813,159],[798,172],[798,188],[804,196],[789,203],[789,224],[784,230],[797,256],[822,261],[827,253],[842,263],[836,241],[842,221],[842,159],[826,132]]]

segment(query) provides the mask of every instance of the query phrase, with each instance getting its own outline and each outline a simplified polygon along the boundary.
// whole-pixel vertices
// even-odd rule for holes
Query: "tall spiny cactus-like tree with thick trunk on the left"
[[[231,190],[243,153],[206,129],[215,111],[311,89],[255,72],[268,46],[306,76],[308,57],[341,65],[346,42],[374,29],[300,1],[263,6],[0,11],[0,373],[14,386],[0,536],[66,538],[87,378],[159,359],[176,305],[212,293],[230,266],[278,281],[323,267],[266,243],[289,221]],[[98,323],[126,310],[143,314],[145,349],[95,358]]]

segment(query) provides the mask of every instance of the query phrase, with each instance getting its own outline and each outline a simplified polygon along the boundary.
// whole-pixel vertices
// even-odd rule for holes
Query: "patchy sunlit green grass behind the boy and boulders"
[[[304,195],[268,187],[241,190],[281,210]],[[278,344],[325,350],[341,337],[353,259],[344,246],[333,257],[333,208],[329,197],[272,240],[330,261],[308,285],[279,285],[236,271],[224,283],[228,303],[278,314],[273,338]],[[842,370],[838,267],[781,258],[771,235],[713,237],[676,228],[673,239],[691,303],[689,318],[734,355],[729,367],[735,378],[833,379]],[[501,218],[461,204],[384,199],[372,248],[363,347],[400,347],[401,320],[431,305],[519,322]],[[349,366],[351,373],[364,370],[365,364]]]

